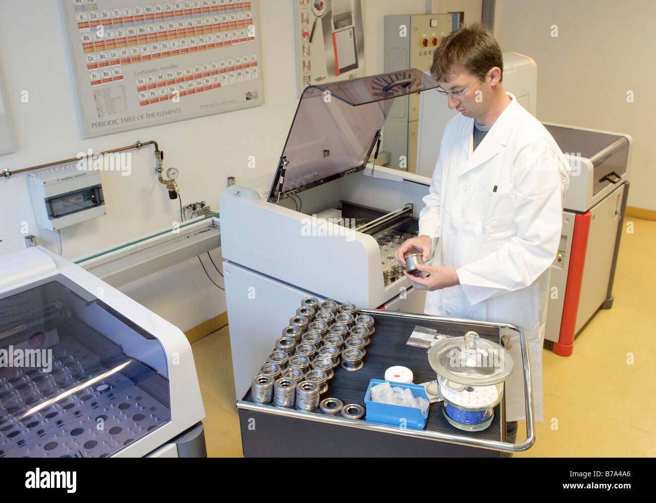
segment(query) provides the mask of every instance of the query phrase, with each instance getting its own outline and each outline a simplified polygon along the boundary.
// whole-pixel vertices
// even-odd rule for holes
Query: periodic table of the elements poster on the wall
[[[264,103],[258,0],[61,0],[83,138]]]

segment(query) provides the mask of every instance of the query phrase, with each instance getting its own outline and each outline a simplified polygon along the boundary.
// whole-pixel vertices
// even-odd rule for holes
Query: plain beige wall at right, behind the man
[[[538,119],[633,137],[628,204],[648,210],[656,210],[654,19],[656,2],[645,0],[497,0],[495,11],[501,49],[537,62]]]

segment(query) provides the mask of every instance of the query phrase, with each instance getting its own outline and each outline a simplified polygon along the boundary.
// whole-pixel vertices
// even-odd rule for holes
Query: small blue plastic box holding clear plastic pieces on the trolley
[[[377,422],[379,424],[390,424],[391,426],[400,426],[401,428],[412,428],[413,430],[423,430],[426,428],[428,409],[426,409],[425,414],[422,414],[421,409],[418,409],[417,407],[403,407],[401,405],[371,401],[371,388],[381,382],[385,381],[382,379],[371,379],[371,381],[369,381],[369,387],[365,393],[367,421]],[[392,388],[410,388],[415,398],[421,396],[428,400],[424,386],[419,386],[419,384],[403,384],[401,382],[390,381],[390,386],[392,386]]]

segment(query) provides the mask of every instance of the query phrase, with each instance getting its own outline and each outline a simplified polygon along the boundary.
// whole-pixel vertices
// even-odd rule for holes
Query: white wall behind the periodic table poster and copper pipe
[[[287,138],[297,105],[292,0],[260,1],[260,40],[264,101],[261,107],[140,130],[81,140],[66,42],[55,0],[0,0],[0,68],[18,151],[0,156],[0,170],[18,170],[156,140],[165,152],[165,168],[180,170],[183,204],[205,200],[218,209],[226,176],[237,182],[272,172]],[[424,0],[374,1],[363,5],[365,65],[368,74],[383,71],[383,26],[386,14],[422,13]],[[28,102],[20,100],[28,91]],[[254,155],[256,167],[247,167]],[[113,244],[152,233],[179,220],[177,201],[169,200],[154,173],[152,147],[133,153],[132,175],[101,172],[107,215],[62,230],[63,255],[73,259]],[[24,222],[39,244],[56,251],[56,234],[34,223],[24,174],[0,179],[0,254],[24,248]],[[220,250],[213,252],[219,265]],[[203,259],[213,274],[207,255]],[[219,265],[220,267],[220,265]],[[121,288],[182,330],[226,310],[222,291],[205,277],[198,259],[172,267]]]

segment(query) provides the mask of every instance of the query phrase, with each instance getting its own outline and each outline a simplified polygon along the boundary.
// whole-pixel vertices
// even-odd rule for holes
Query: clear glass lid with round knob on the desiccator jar
[[[498,384],[514,369],[508,350],[473,331],[436,343],[428,352],[428,362],[438,376],[468,386]]]

